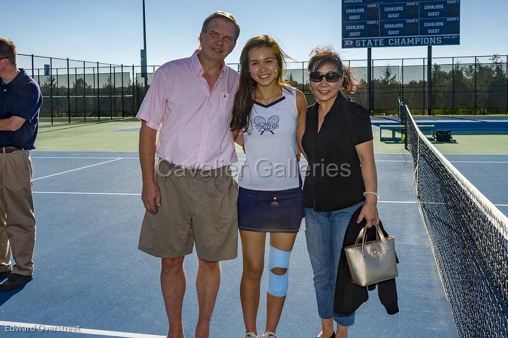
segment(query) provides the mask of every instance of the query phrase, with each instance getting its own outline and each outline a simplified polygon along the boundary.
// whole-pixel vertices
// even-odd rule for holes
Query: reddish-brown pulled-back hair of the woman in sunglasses
[[[347,97],[351,97],[356,93],[360,83],[355,78],[351,67],[342,64],[339,54],[329,45],[322,48],[314,48],[310,52],[310,60],[307,67],[309,72],[317,71],[325,64],[335,64],[339,73],[344,73],[344,81],[342,81],[342,93]]]

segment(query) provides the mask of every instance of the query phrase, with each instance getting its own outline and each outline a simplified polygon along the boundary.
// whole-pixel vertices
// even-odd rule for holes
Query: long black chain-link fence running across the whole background
[[[367,60],[344,60],[360,87],[353,98],[374,114],[397,114],[397,98],[413,115],[508,114],[508,55],[439,57],[432,59],[431,102],[428,100],[427,58],[372,60],[372,107],[369,107]],[[39,82],[44,96],[41,121],[93,121],[132,117],[148,90],[158,65],[127,66],[18,54],[18,65]],[[314,98],[307,77],[308,62],[286,64],[285,80]],[[239,64],[230,66],[239,71]]]

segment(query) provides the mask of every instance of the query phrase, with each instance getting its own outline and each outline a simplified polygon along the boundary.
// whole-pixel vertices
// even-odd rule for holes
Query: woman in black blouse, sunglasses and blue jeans
[[[358,222],[379,223],[377,175],[370,118],[351,100],[358,82],[330,48],[314,49],[309,60],[310,86],[317,102],[307,109],[302,144],[309,162],[303,187],[305,236],[314,273],[322,332],[317,337],[347,337],[355,313],[333,312],[333,293],[346,227],[358,208]]]

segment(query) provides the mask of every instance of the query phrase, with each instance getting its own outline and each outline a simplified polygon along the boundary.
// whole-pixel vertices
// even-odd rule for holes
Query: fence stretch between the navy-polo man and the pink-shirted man
[[[41,87],[41,124],[134,115],[131,66],[25,54],[17,61]]]

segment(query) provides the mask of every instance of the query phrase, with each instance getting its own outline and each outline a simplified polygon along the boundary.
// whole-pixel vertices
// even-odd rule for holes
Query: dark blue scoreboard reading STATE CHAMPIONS
[[[460,0],[342,0],[342,48],[459,42]]]

